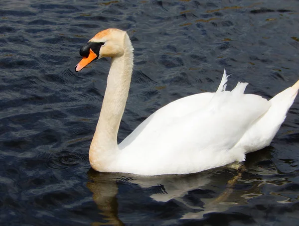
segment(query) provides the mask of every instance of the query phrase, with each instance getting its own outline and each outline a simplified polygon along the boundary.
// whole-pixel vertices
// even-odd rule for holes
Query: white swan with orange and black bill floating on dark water
[[[246,153],[270,144],[299,90],[299,81],[270,101],[244,94],[248,83],[226,91],[224,71],[215,93],[195,94],[151,114],[119,145],[117,133],[128,98],[133,47],[126,31],[109,28],[80,49],[78,72],[111,57],[101,113],[89,149],[100,172],[139,175],[189,174],[244,161]]]

